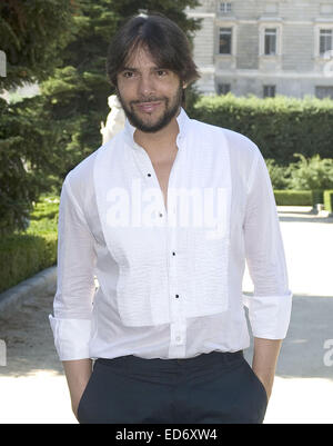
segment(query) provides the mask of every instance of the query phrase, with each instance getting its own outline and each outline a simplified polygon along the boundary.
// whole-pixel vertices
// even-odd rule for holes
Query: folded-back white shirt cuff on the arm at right
[[[284,339],[290,325],[292,296],[245,296],[252,334],[256,338]]]

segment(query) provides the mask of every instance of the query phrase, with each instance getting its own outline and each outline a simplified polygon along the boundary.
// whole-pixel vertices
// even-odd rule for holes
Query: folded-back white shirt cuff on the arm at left
[[[59,319],[49,315],[49,320],[60,360],[90,358],[90,319]]]

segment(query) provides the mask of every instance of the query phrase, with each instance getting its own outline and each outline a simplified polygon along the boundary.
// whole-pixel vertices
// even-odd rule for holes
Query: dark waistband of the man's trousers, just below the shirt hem
[[[233,366],[241,363],[244,359],[243,350],[239,351],[211,351],[201,354],[191,358],[178,358],[178,359],[161,359],[161,358],[141,358],[134,355],[119,356],[117,358],[98,358],[98,364],[114,367],[133,368],[135,370],[141,369],[179,369],[179,368],[206,368],[213,365],[220,366]]]

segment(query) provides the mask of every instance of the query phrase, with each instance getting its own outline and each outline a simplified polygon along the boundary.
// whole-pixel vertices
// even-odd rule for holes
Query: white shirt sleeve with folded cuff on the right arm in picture
[[[243,230],[249,274],[254,285],[253,296],[243,297],[253,336],[283,339],[290,325],[292,291],[274,192],[259,149],[249,179]]]

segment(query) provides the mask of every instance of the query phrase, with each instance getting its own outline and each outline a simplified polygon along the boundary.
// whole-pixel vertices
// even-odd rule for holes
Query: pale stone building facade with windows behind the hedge
[[[333,99],[333,0],[201,0],[194,60],[205,95]]]

